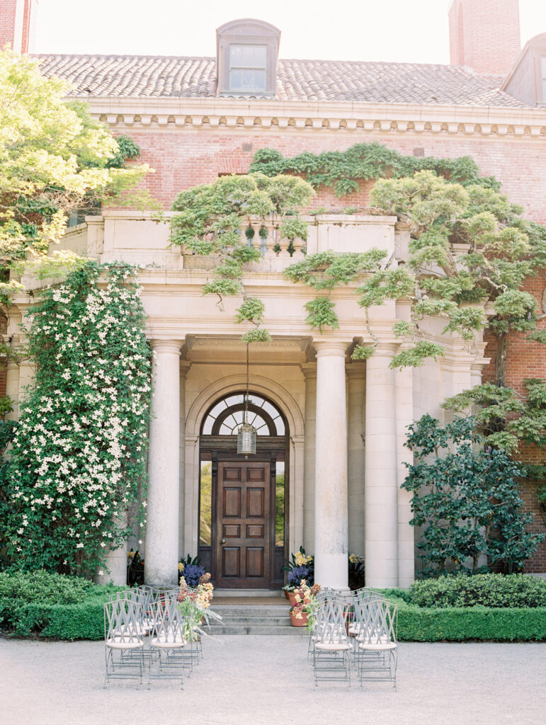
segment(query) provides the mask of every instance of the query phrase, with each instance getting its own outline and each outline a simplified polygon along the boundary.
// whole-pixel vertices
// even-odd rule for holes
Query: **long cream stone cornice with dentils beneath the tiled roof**
[[[91,113],[111,126],[231,128],[234,130],[366,131],[446,136],[546,137],[542,108],[505,108],[347,101],[86,98]]]

